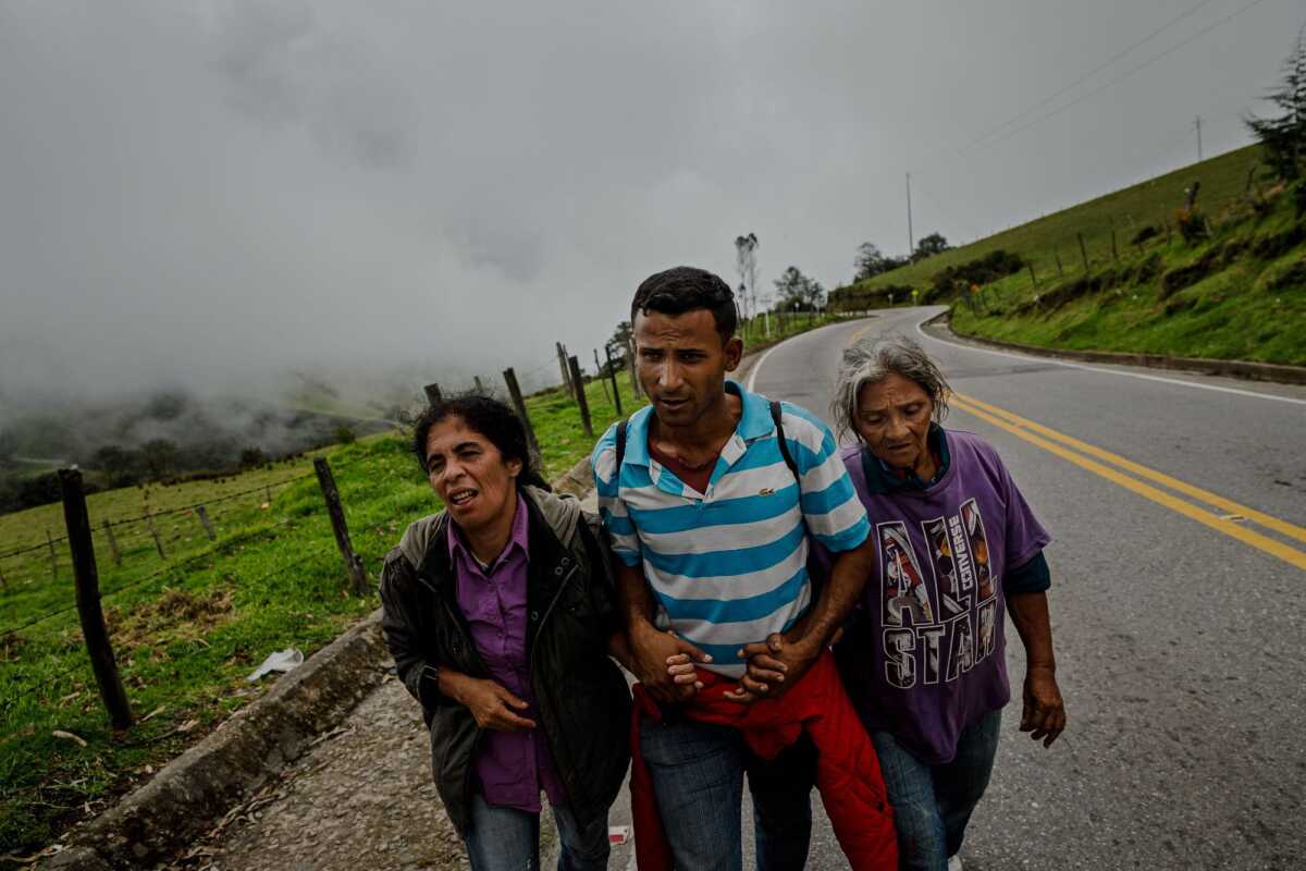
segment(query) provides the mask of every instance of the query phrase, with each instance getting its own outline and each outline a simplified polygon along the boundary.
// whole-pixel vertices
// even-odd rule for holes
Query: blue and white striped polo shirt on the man
[[[627,424],[620,474],[615,424],[590,465],[613,550],[627,565],[643,562],[670,628],[710,653],[713,671],[739,678],[739,648],[784,632],[811,603],[806,531],[844,551],[866,541],[870,524],[829,427],[781,405],[799,494],[780,453],[771,401],[735,381],[726,390],[742,398],[743,415],[705,494],[649,456],[652,406]]]

